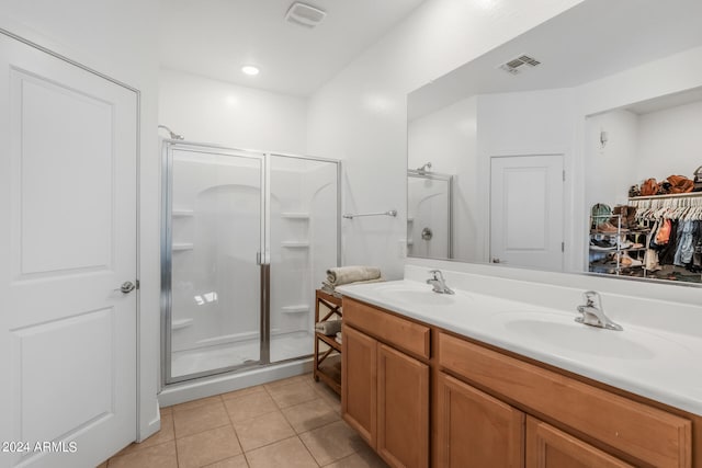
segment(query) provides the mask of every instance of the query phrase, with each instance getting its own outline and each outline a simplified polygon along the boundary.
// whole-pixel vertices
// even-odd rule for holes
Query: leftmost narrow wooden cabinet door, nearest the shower
[[[377,342],[343,324],[341,416],[373,448],[377,434]]]

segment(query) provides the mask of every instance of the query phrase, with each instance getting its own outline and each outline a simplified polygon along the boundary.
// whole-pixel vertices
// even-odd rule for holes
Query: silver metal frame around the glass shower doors
[[[291,361],[298,361],[312,356],[310,354],[293,357],[290,359],[270,362],[271,350],[271,254],[270,254],[270,203],[271,203],[271,158],[283,157],[291,159],[301,159],[318,162],[328,162],[336,164],[337,178],[337,266],[341,264],[341,161],[327,158],[316,158],[309,156],[287,155],[281,152],[263,152],[253,150],[244,150],[236,148],[227,148],[217,145],[200,144],[183,141],[170,138],[161,139],[161,296],[160,296],[160,315],[161,315],[161,372],[159,389],[166,386],[193,380],[202,377],[210,377],[233,373],[244,368],[253,368],[257,366],[267,366],[272,364],[282,364]],[[196,149],[199,152],[245,157],[258,159],[261,161],[261,230],[260,230],[260,248],[257,253],[257,263],[260,266],[260,353],[259,361],[246,364],[238,364],[216,369],[203,370],[183,376],[171,376],[171,269],[172,269],[172,152],[177,148]]]

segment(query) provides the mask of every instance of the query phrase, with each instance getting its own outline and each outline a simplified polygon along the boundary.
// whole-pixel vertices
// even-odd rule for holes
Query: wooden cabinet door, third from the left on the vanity
[[[443,373],[438,393],[438,466],[524,466],[524,413]]]

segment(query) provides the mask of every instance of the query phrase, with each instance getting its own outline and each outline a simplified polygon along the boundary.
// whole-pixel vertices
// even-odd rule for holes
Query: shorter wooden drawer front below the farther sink
[[[343,298],[343,322],[419,357],[429,358],[429,327]]]

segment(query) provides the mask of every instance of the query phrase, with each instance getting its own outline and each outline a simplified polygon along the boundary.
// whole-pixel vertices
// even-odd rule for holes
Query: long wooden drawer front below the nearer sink
[[[440,333],[439,365],[658,467],[692,463],[691,422]]]

